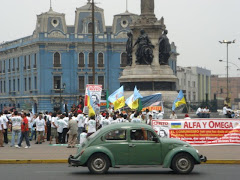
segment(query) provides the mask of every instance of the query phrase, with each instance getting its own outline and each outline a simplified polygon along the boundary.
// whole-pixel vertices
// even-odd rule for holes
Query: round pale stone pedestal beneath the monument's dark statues
[[[121,86],[124,86],[126,97],[132,95],[135,86],[140,90],[142,96],[161,93],[165,102],[173,102],[177,97],[177,77],[168,65],[127,66],[119,81]]]

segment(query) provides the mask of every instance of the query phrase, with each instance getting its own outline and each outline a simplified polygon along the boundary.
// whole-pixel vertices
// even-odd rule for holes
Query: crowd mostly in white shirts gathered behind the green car
[[[150,112],[148,109],[144,112],[121,112],[109,107],[99,115],[88,117],[81,107],[75,107],[69,113],[4,111],[0,113],[0,147],[9,143],[8,132],[11,132],[11,147],[21,148],[25,139],[25,148],[30,148],[34,140],[39,145],[48,140],[49,144],[54,141],[56,144],[68,144],[68,148],[74,148],[76,143],[81,144],[88,136],[109,124],[132,122],[151,125],[152,119],[163,119],[164,114],[155,110]]]

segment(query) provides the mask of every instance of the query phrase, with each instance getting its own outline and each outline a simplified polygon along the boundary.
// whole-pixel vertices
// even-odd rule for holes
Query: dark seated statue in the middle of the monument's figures
[[[153,48],[151,41],[148,38],[148,35],[142,29],[140,31],[140,36],[138,37],[137,41],[135,42],[135,47],[138,44],[136,56],[137,61],[136,64],[138,65],[151,65],[153,61]]]

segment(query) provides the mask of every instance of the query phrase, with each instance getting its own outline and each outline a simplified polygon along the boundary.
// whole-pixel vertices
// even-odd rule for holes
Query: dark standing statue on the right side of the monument
[[[167,37],[167,30],[164,30],[163,35],[159,38],[159,64],[168,65],[168,59],[170,57],[171,45]]]

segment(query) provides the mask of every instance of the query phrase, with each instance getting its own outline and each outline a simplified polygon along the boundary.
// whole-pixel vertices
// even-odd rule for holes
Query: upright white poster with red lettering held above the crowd
[[[88,90],[90,95],[88,94]],[[101,101],[101,95],[102,95],[102,85],[98,84],[87,84],[86,86],[86,91],[85,91],[85,96],[88,95],[92,99],[93,102],[93,108],[98,114],[100,112],[100,101]],[[88,113],[87,109],[87,98],[85,98],[84,102],[84,113]]]

